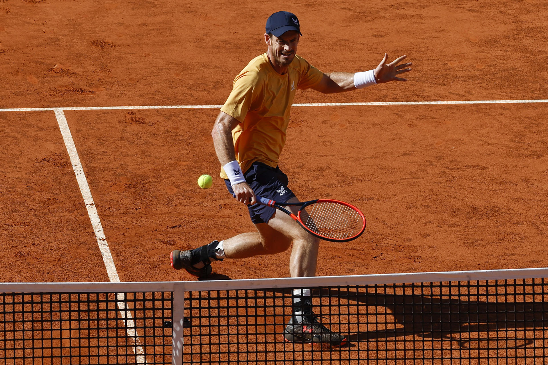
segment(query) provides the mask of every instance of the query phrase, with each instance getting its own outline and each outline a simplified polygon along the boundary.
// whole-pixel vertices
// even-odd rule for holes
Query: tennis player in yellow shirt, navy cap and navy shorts
[[[266,53],[255,57],[236,76],[232,92],[215,120],[212,136],[221,163],[220,176],[236,200],[248,205],[256,232],[242,233],[223,241],[187,251],[173,251],[174,269],[185,269],[198,277],[212,273],[210,263],[225,258],[245,258],[286,251],[292,277],[315,276],[319,240],[291,217],[269,206],[256,204],[256,196],[278,202],[299,201],[289,188],[288,177],[278,167],[286,142],[289,111],[297,89],[324,94],[362,89],[366,86],[406,81],[398,77],[411,71],[411,63],[386,63],[365,72],[324,74],[296,54],[299,20],[288,11],[278,11],[266,20]],[[291,207],[288,207],[291,210]],[[295,289],[293,317],[284,331],[287,341],[340,346],[344,335],[331,332],[312,312],[310,289]]]

